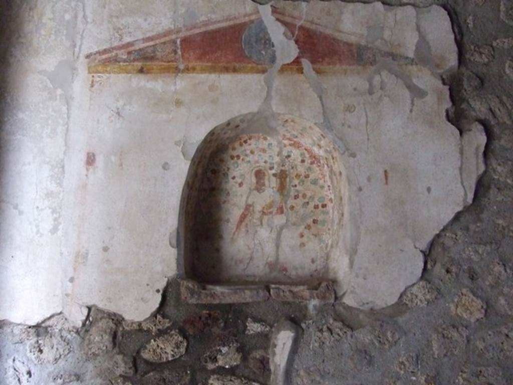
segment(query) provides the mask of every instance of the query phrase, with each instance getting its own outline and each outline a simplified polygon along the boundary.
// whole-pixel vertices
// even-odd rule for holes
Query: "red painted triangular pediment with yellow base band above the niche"
[[[301,73],[307,59],[319,73],[376,62],[377,50],[349,43],[336,30],[274,12],[299,55],[281,71]],[[86,56],[89,73],[264,73],[272,47],[258,12],[172,29]]]

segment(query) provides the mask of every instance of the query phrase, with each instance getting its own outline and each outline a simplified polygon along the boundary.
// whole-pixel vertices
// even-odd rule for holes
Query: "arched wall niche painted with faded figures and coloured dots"
[[[286,114],[230,119],[207,134],[189,167],[179,275],[226,290],[336,279],[346,190],[340,152],[313,123]]]

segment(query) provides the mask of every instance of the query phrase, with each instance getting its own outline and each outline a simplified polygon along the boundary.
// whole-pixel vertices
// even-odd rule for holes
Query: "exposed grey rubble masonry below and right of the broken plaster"
[[[455,105],[449,118],[462,130],[466,121],[478,120],[490,138],[476,200],[431,244],[423,281],[379,312],[272,299],[186,304],[171,281],[157,314],[143,322],[94,307],[80,329],[60,315],[36,326],[2,322],[0,383],[263,385],[270,378],[270,334],[248,328],[252,322],[273,326],[283,318],[302,330],[293,385],[513,383],[511,2],[386,3],[440,4],[449,11],[461,51],[461,68],[445,79]],[[0,5],[0,13],[14,12],[10,7],[10,2]],[[169,333],[181,338],[163,339]],[[143,352],[154,347],[152,341],[163,342],[167,353],[160,358],[176,357],[147,360]],[[209,370],[202,357],[223,341],[238,344],[240,362]]]

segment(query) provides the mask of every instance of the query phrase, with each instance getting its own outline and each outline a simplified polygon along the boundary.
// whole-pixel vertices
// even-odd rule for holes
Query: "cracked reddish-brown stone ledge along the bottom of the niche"
[[[187,303],[248,303],[264,302],[272,298],[284,302],[334,302],[335,290],[331,282],[307,285],[209,285],[191,279],[180,280],[182,300]]]

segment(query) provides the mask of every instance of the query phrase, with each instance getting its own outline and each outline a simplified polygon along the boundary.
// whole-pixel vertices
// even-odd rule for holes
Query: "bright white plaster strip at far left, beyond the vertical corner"
[[[64,153],[80,6],[3,8],[0,319],[35,323],[62,310]]]

